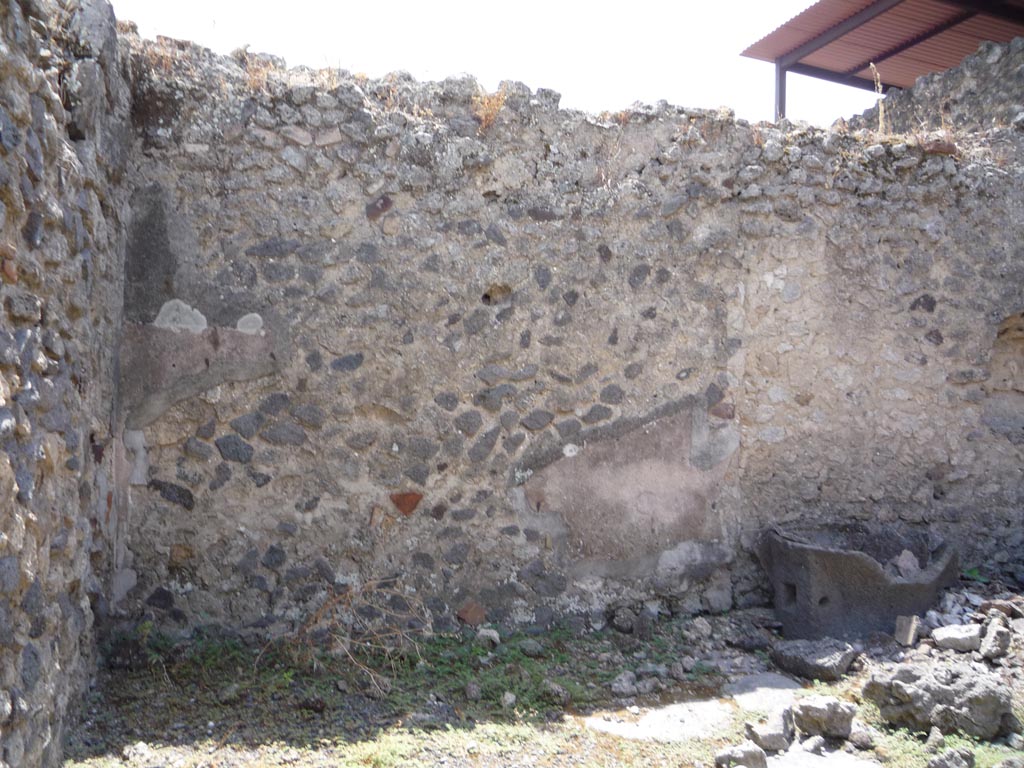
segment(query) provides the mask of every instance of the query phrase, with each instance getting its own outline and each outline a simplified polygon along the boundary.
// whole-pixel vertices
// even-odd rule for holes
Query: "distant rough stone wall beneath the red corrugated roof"
[[[881,70],[883,79],[885,69]],[[873,108],[851,122],[879,129]],[[982,43],[959,67],[918,78],[913,88],[885,97],[885,130],[920,133],[934,130],[986,131],[1024,125],[1024,38],[1006,44]]]

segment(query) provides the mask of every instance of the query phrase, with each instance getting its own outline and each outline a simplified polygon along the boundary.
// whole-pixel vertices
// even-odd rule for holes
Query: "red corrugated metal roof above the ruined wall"
[[[885,5],[892,7],[794,63],[869,81],[866,63],[873,61],[884,83],[906,88],[922,75],[955,67],[982,41],[1005,43],[1024,36],[1024,0],[902,0],[884,5],[880,0],[820,0],[743,55],[778,61],[856,14]]]

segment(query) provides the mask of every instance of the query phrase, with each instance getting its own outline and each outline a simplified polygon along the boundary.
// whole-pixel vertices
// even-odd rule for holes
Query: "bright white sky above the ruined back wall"
[[[193,40],[220,53],[245,45],[289,66],[417,80],[469,73],[552,88],[561,105],[599,113],[634,101],[731,106],[771,120],[774,68],[739,52],[812,0],[112,0],[143,37]],[[827,126],[873,94],[788,76],[791,119]]]

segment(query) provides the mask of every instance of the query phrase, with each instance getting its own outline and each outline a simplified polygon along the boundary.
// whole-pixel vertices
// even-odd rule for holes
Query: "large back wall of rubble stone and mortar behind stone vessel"
[[[438,628],[723,610],[791,520],[1020,548],[1020,131],[130,44],[130,611],[283,632],[379,579],[364,618]]]

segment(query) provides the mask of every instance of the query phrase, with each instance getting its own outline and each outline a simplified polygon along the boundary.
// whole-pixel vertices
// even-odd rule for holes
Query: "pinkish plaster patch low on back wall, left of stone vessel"
[[[654,421],[586,435],[585,451],[563,446],[525,483],[526,513],[559,528],[575,578],[706,579],[731,559],[717,500],[739,432],[703,397],[673,404]]]

